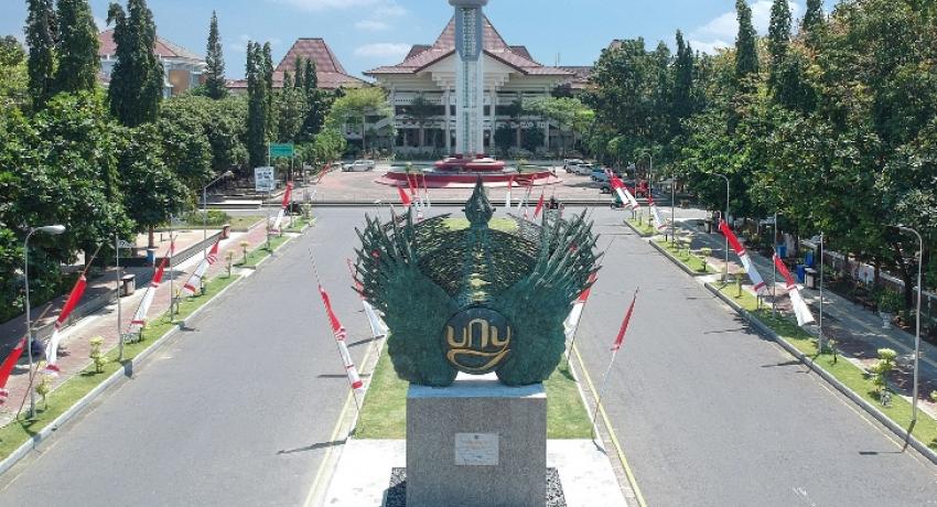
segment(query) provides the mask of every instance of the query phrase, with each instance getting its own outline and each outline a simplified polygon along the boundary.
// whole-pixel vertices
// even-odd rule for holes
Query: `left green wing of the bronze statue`
[[[355,279],[364,295],[384,312],[390,330],[388,352],[397,375],[410,382],[448,386],[456,370],[445,360],[442,330],[455,313],[452,299],[419,269],[412,217],[388,225],[366,218]]]

